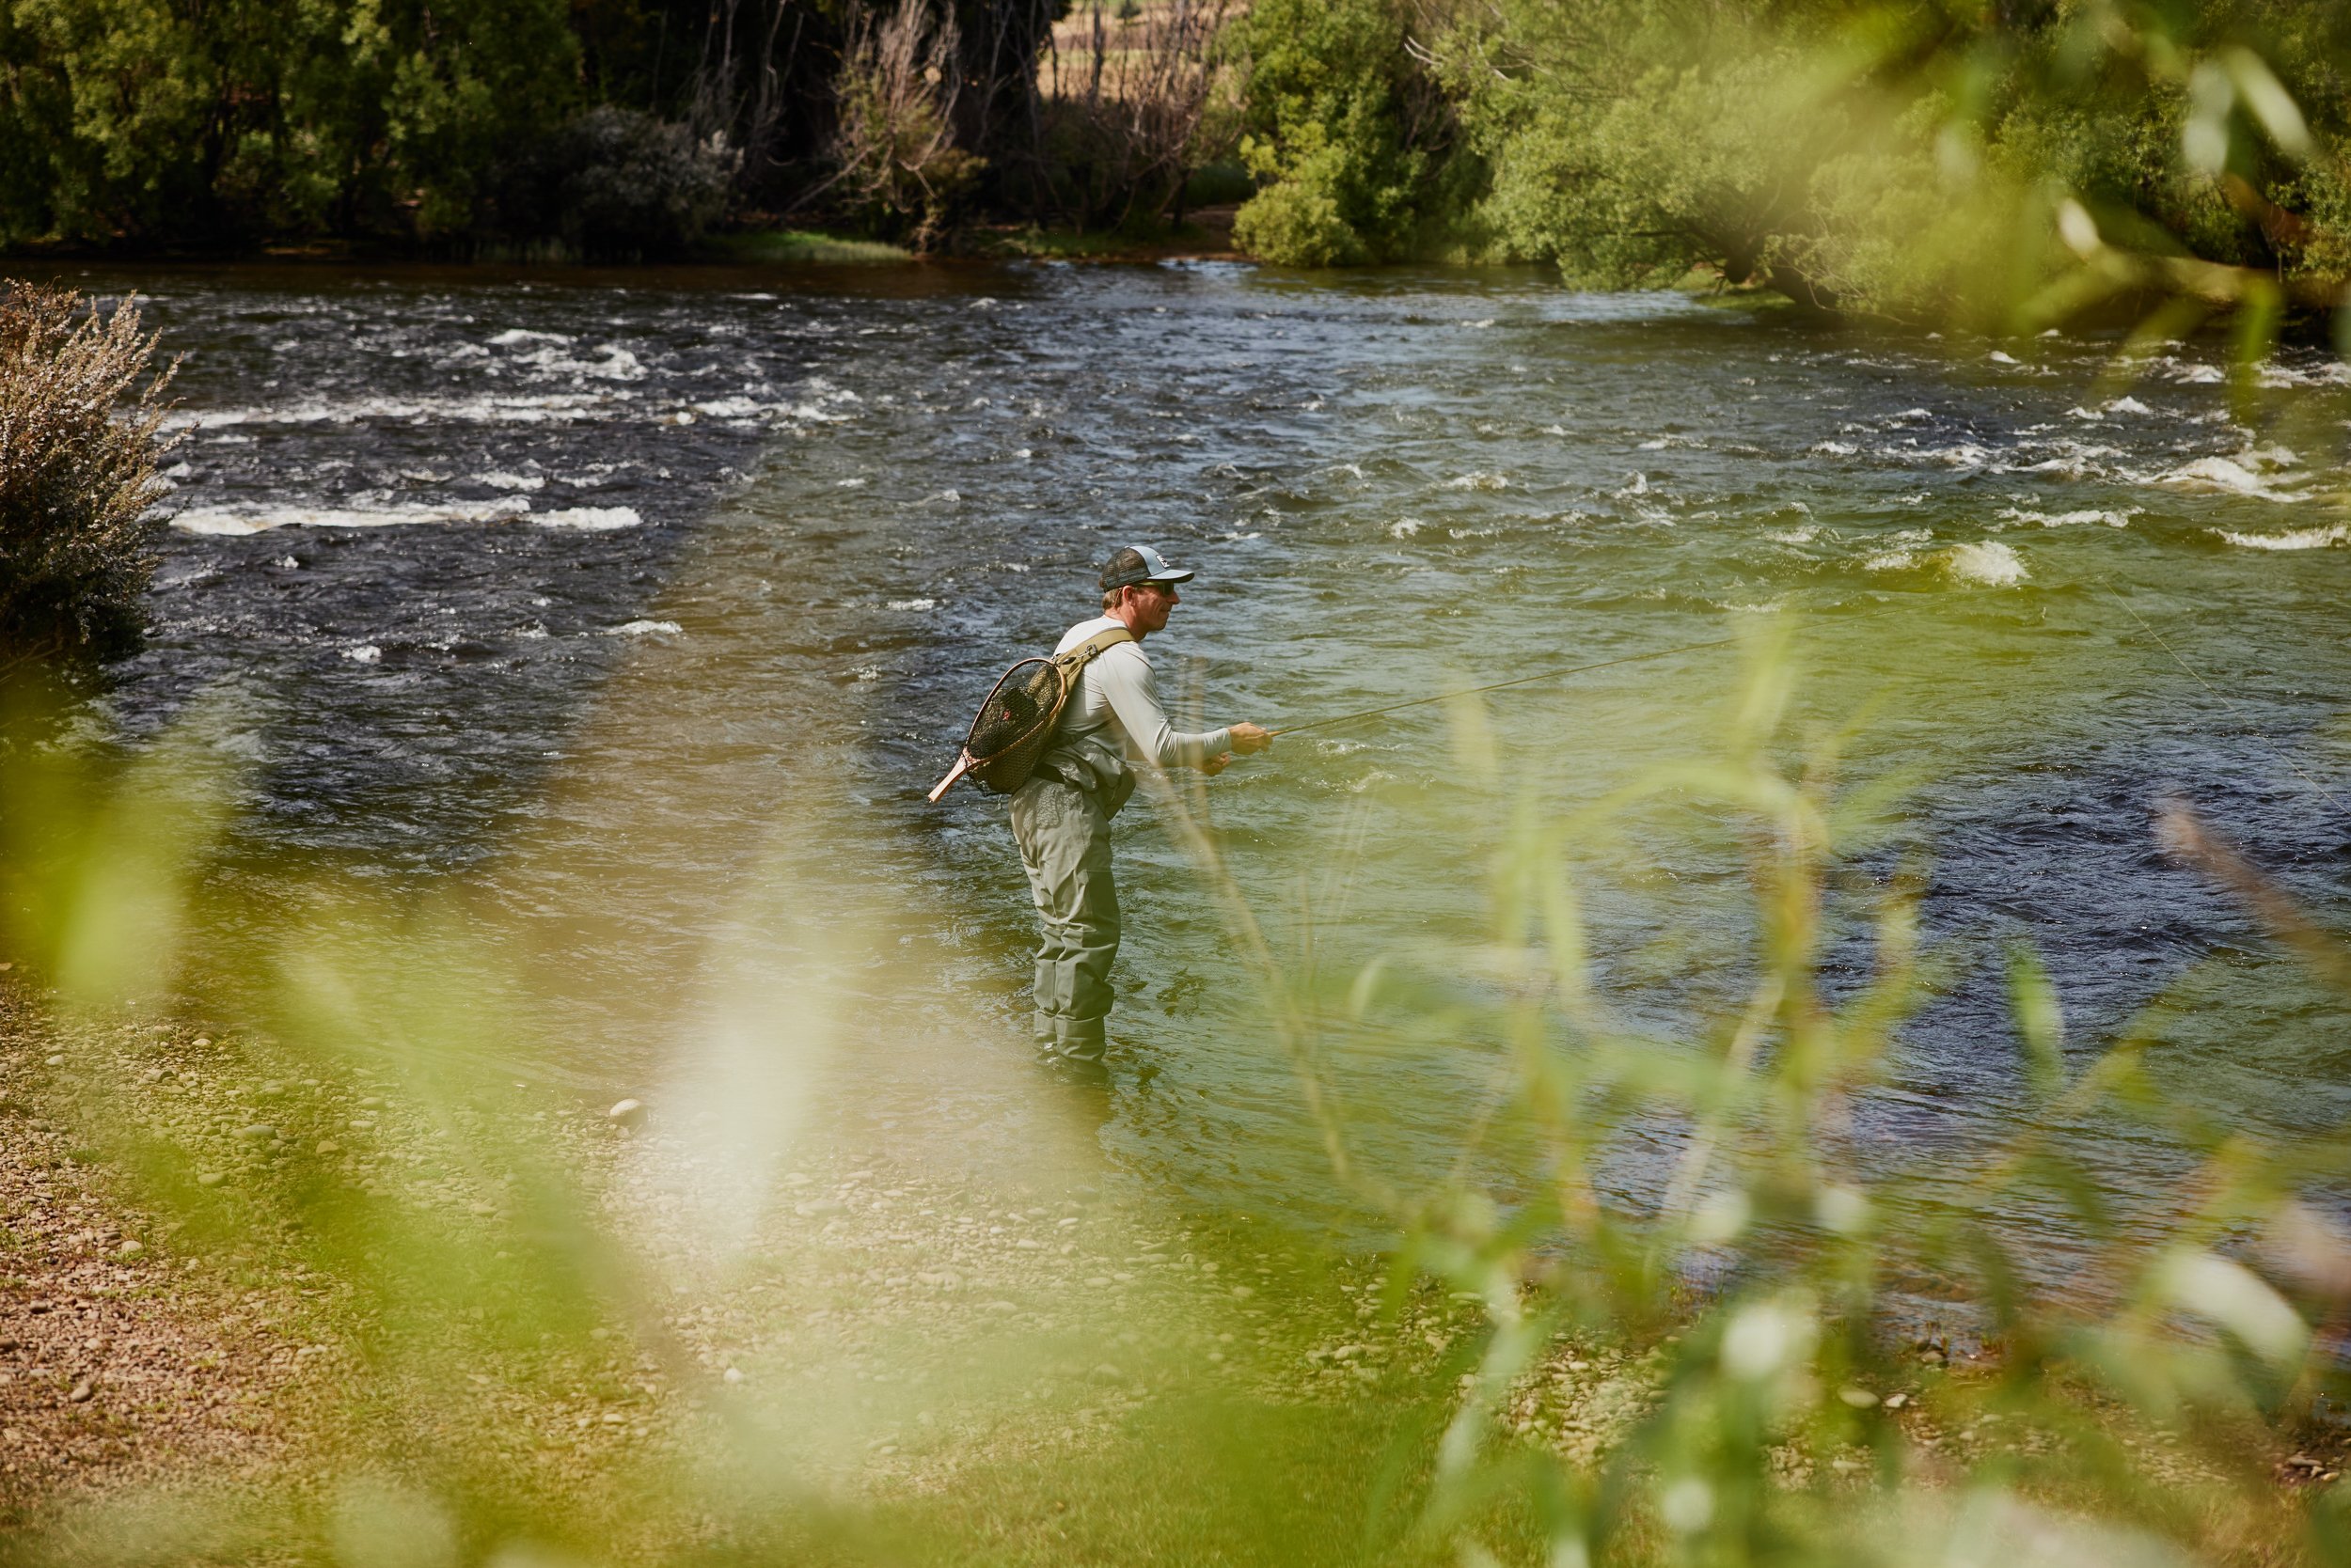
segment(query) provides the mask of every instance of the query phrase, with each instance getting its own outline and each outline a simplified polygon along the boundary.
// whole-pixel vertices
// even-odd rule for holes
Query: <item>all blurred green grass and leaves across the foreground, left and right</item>
[[[294,1450],[259,1497],[122,1490],[0,1554],[353,1568],[2351,1554],[2335,1493],[2304,1509],[2273,1472],[2339,1394],[2351,1241],[2325,1192],[2351,1140],[2257,1138],[2168,1095],[2151,1070],[2161,1004],[2102,1048],[2069,1039],[2062,997],[2015,947],[2036,1112],[1963,1168],[1944,1159],[1923,1201],[1921,1173],[1855,1128],[1954,969],[1921,936],[1893,785],[1843,778],[1850,736],[1791,736],[1791,691],[1789,658],[1763,649],[1716,755],[1561,818],[1521,811],[1488,867],[1476,954],[1345,976],[1295,961],[1223,867],[1204,799],[1164,802],[1262,978],[1302,1114],[1392,1218],[1375,1305],[1338,1319],[1305,1286],[1284,1302],[1265,1281],[1345,1274],[1342,1258],[1267,1262],[1260,1239],[1204,1220],[1185,1248],[1227,1272],[1187,1258],[1187,1284],[1128,1316],[882,1300],[891,1265],[828,1241],[820,1208],[799,1232],[769,1225],[790,1213],[778,1161],[804,1152],[806,1114],[799,1063],[778,1053],[813,1027],[813,992],[743,983],[757,994],[731,1001],[689,1074],[708,1119],[684,1119],[696,1100],[679,1088],[670,1133],[651,1138],[562,1107],[541,1121],[529,1107],[545,1100],[510,1081],[536,1027],[520,959],[463,898],[313,877],[266,952],[223,952],[226,931],[252,926],[207,891],[237,802],[205,743],[216,719],[197,712],[115,776],[19,757],[0,818],[5,943],[78,1041],[45,1105],[160,1215],[158,1239],[190,1260],[181,1291],[284,1293],[299,1269],[301,1331],[341,1371],[320,1406],[282,1418]],[[1474,710],[1453,762],[1502,776]],[[1693,1001],[1674,1032],[1620,1020],[1578,898],[1582,846],[1657,802],[1709,818],[1751,893],[1733,1001]],[[2337,943],[2186,811],[2168,835],[2339,973]],[[788,867],[771,879],[788,886]],[[190,1039],[228,1013],[235,1034]],[[1498,1095],[1462,1128],[1458,1178],[1408,1187],[1357,1140],[1375,1107],[1349,1100],[1333,1060],[1361,1048],[1361,1025],[1394,1051],[1500,1041]],[[141,1063],[197,1098],[207,1084],[242,1098],[158,1110]],[[237,1126],[247,1114],[268,1117],[261,1138]],[[2177,1150],[2179,1175],[2118,1187],[2081,1157],[2102,1119]],[[1669,1150],[1660,1180],[1625,1178],[1636,1140]],[[416,1168],[444,1180],[418,1187]],[[2064,1288],[2036,1269],[2031,1215],[2057,1215],[2076,1246]],[[1225,1291],[1244,1262],[1258,1295]],[[882,1328],[856,1347],[828,1338],[844,1312]],[[1385,1371],[1340,1375],[1361,1347],[1335,1335],[1382,1328],[1404,1347]],[[1258,1345],[1258,1382],[1215,1382],[1218,1331],[1241,1335],[1234,1354]],[[1126,1366],[1089,1371],[1105,1354]],[[1053,1371],[1072,1356],[1074,1373]],[[851,1366],[917,1387],[851,1382]],[[1128,1385],[1161,1394],[1103,1392]],[[1366,1394],[1312,1392],[1328,1387]],[[886,1434],[926,1429],[922,1401],[957,1434],[933,1443],[936,1465],[842,1481]]]

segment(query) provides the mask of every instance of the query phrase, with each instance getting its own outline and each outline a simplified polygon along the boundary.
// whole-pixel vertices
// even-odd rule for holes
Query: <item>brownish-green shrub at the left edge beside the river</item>
[[[143,637],[172,378],[148,376],[153,355],[136,301],[106,317],[63,289],[0,299],[0,672]]]

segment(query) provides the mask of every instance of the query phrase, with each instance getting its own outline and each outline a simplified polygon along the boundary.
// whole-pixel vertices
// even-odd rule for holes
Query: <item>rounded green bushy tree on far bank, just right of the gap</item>
[[[1234,240],[1293,266],[1394,261],[1444,242],[1453,115],[1396,0],[1260,0],[1239,24],[1241,160],[1265,188]]]

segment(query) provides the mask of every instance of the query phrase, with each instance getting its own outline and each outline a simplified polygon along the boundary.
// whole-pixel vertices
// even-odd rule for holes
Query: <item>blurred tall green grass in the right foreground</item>
[[[1335,1168],[1394,1218],[1389,1309],[1436,1284],[1486,1314],[1422,1528],[1455,1537],[1512,1495],[1549,1563],[2342,1561],[2337,1493],[2306,1493],[2304,1516],[2280,1488],[2332,1481],[2330,1462],[2280,1460],[2332,1443],[2351,1135],[2264,1138],[2168,1093],[2154,1058],[2175,997],[2111,1041],[2069,1039],[2017,943],[2003,961],[2034,1112],[1989,1150],[1871,1150],[1871,1091],[1956,954],[1921,938],[1897,788],[1841,778],[1850,736],[1791,738],[1789,696],[1791,665],[1766,649],[1719,755],[1559,820],[1523,809],[1474,957],[1399,952],[1338,978],[1277,957],[1199,804],[1178,813]],[[1476,710],[1453,764],[1498,778]],[[1662,802],[1742,846],[1751,893],[1742,997],[1665,1037],[1610,1009],[1578,898],[1578,851]],[[2158,830],[2346,990],[2346,947],[2186,806]],[[1352,1147],[1364,1107],[1331,1065],[1364,1027],[1434,1051],[1505,1041],[1460,1178],[1399,1190]],[[2090,1159],[2114,1126],[2177,1173]],[[1643,1180],[1627,1157],[1660,1143],[1667,1173]]]

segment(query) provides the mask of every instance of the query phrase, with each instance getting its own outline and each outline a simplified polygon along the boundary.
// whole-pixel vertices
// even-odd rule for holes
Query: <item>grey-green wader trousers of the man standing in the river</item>
[[[1110,882],[1110,811],[1100,795],[1051,773],[1013,790],[1013,839],[1037,898],[1037,1044],[1103,1056],[1110,961],[1119,957],[1119,889]]]

